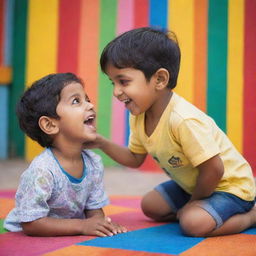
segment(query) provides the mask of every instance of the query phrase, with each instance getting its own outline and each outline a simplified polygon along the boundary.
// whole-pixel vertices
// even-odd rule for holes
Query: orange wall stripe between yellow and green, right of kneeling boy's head
[[[194,104],[206,111],[207,0],[194,0]]]

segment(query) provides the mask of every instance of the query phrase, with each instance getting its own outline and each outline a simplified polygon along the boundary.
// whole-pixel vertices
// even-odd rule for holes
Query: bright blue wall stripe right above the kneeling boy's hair
[[[151,27],[167,28],[168,1],[149,1],[149,24]]]

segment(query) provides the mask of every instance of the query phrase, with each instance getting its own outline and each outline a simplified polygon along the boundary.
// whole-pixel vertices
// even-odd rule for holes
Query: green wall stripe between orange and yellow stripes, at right
[[[207,112],[226,132],[228,0],[209,0]]]

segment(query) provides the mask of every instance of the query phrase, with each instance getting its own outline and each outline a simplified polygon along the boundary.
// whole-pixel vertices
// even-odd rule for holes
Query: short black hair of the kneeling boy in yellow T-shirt
[[[173,32],[144,27],[127,31],[104,48],[100,65],[106,73],[107,65],[116,68],[141,70],[146,79],[159,69],[170,73],[168,88],[175,88],[180,69],[180,48]]]

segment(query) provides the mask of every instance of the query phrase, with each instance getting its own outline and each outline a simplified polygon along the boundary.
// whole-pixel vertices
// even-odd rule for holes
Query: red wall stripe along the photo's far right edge
[[[256,1],[245,1],[243,153],[256,175]]]

